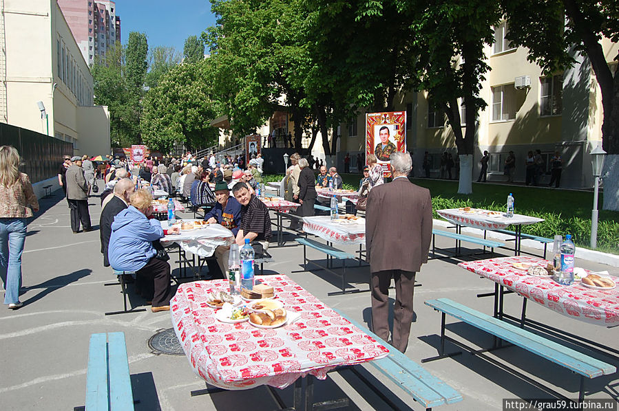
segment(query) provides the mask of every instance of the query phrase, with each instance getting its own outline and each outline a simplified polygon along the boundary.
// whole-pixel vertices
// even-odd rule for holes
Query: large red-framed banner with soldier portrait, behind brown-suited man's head
[[[381,140],[387,136],[386,142]],[[383,148],[383,144],[385,144]],[[383,168],[384,177],[391,177],[391,153],[399,151],[406,153],[406,111],[384,111],[382,113],[366,113],[366,159],[374,154]]]

